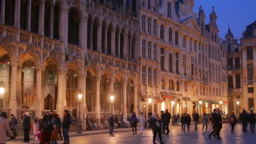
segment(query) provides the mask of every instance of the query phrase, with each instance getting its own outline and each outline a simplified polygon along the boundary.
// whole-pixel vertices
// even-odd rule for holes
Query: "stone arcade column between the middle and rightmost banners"
[[[35,100],[35,106],[36,106],[36,116],[41,117],[42,112],[42,101],[41,101],[41,85],[42,85],[42,67],[36,66],[35,70],[37,71],[37,96]]]

